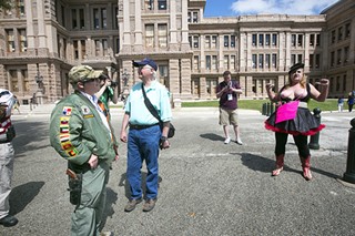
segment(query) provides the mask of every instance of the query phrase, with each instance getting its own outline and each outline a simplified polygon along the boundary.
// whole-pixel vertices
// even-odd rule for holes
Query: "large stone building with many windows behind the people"
[[[13,0],[0,11],[0,88],[21,104],[53,103],[72,92],[77,64],[105,69],[121,94],[139,81],[132,60],[149,57],[172,99],[213,100],[230,70],[241,99],[265,99],[288,69],[305,63],[329,96],[355,90],[355,1],[314,16],[205,18],[209,0]]]

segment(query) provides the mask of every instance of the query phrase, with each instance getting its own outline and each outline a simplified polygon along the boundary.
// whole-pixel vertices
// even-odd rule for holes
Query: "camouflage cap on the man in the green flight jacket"
[[[69,71],[69,81],[70,83],[77,83],[79,81],[87,82],[98,79],[102,74],[102,70],[95,71],[89,65],[77,65]]]

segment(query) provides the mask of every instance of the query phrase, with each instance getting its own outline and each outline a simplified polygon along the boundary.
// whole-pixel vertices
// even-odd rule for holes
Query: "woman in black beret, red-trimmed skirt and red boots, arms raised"
[[[283,171],[287,136],[288,134],[292,134],[298,150],[303,177],[306,181],[312,179],[311,153],[307,144],[307,135],[316,134],[324,129],[325,125],[318,124],[317,120],[307,109],[307,103],[311,98],[318,102],[324,102],[328,94],[329,81],[327,79],[322,79],[317,84],[320,85],[321,91],[306,82],[303,63],[296,63],[291,66],[288,71],[288,83],[285,84],[277,94],[273,92],[273,84],[266,84],[267,95],[272,102],[287,103],[296,100],[300,101],[295,119],[276,123],[276,112],[274,112],[265,121],[265,127],[275,132],[276,138],[276,168],[272,172],[273,176],[280,175]]]

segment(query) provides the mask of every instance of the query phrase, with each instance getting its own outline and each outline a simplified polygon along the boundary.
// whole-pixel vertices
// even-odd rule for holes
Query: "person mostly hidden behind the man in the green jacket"
[[[104,105],[105,111],[110,114],[110,100],[113,104],[119,102],[119,86],[106,74],[100,76],[100,90],[95,93]],[[110,115],[111,117],[111,115]]]

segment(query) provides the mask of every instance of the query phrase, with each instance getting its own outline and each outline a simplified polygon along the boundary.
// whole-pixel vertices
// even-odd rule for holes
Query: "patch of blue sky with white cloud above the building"
[[[206,0],[205,17],[257,13],[320,14],[339,0]]]

